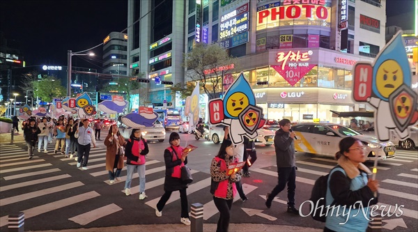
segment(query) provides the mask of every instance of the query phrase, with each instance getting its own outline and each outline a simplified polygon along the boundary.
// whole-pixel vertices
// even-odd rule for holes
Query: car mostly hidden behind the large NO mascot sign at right
[[[390,141],[403,149],[412,149],[418,147],[418,125],[411,125],[408,127],[410,137],[408,139],[401,139],[396,132],[390,132]],[[362,134],[374,135],[374,127],[369,127],[365,130],[359,130]]]

